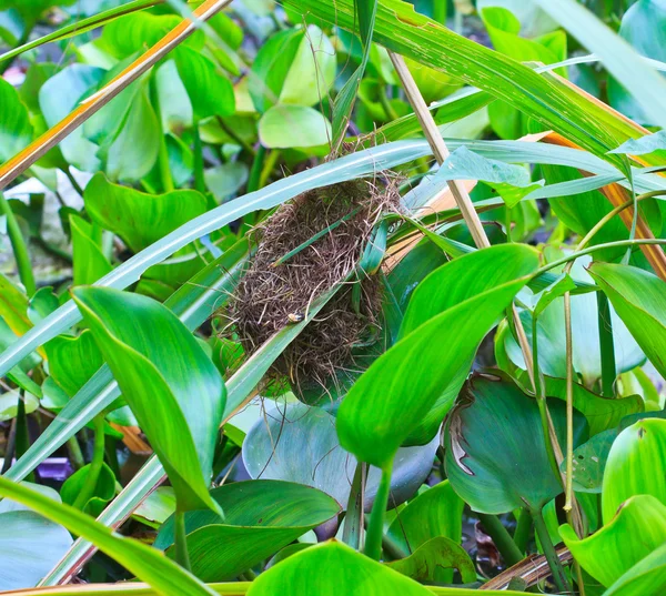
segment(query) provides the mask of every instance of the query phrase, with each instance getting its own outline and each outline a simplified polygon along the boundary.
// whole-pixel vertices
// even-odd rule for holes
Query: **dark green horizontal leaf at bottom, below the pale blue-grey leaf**
[[[204,582],[238,576],[340,513],[340,505],[325,493],[279,481],[223,485],[211,496],[224,511],[224,524],[212,512],[185,515],[192,573]],[[173,529],[171,517],[154,544],[169,548],[170,556]]]

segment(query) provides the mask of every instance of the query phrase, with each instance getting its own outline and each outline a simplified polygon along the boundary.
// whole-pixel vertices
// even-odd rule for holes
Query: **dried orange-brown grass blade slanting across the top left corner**
[[[194,16],[199,20],[205,21],[220,12],[230,2],[231,0],[206,0],[194,11]],[[37,160],[101,110],[123,89],[150,70],[159,60],[164,58],[195,30],[196,24],[193,21],[183,20],[100,91],[83,100],[64,120],[48,130],[18,155],[4,163],[0,168],[0,190],[4,189],[11,181],[33,165]]]

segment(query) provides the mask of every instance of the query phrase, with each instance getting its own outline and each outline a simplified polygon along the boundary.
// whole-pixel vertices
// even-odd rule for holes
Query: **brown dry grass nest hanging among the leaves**
[[[296,390],[312,383],[325,387],[339,371],[354,367],[354,347],[379,335],[382,306],[379,277],[355,271],[375,224],[398,209],[397,179],[384,174],[307,191],[255,230],[255,255],[229,309],[230,329],[246,353],[306,317],[319,296],[344,284],[282,353],[269,380],[286,375]],[[276,264],[322,231],[312,244]],[[356,305],[355,284],[361,290],[355,292]]]

